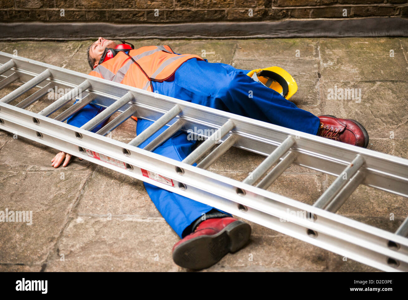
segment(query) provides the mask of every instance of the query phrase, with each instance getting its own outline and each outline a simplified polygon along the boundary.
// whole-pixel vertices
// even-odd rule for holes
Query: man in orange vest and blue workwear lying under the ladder
[[[169,46],[114,51],[116,47],[117,44],[113,40],[101,37],[89,46],[88,61],[92,70],[90,75],[367,147],[368,133],[355,120],[330,115],[317,117],[299,109],[277,91],[247,76],[248,70],[235,69],[228,64],[209,63],[196,55],[177,54]],[[88,104],[71,116],[67,123],[81,127],[102,110],[95,104]],[[152,123],[148,120],[137,120],[137,135]],[[103,124],[100,124],[93,132],[102,126]],[[165,129],[166,127],[156,132],[139,147],[143,148],[149,144]],[[194,140],[187,139],[187,133],[178,131],[153,152],[182,161],[191,153],[194,144]],[[57,168],[64,161],[62,166],[66,167],[70,159],[71,155],[60,152],[51,162],[53,167]],[[177,193],[146,182],[144,186],[164,219],[182,238],[173,247],[173,260],[181,267],[210,267],[228,252],[235,252],[248,242],[251,235],[249,224]]]

